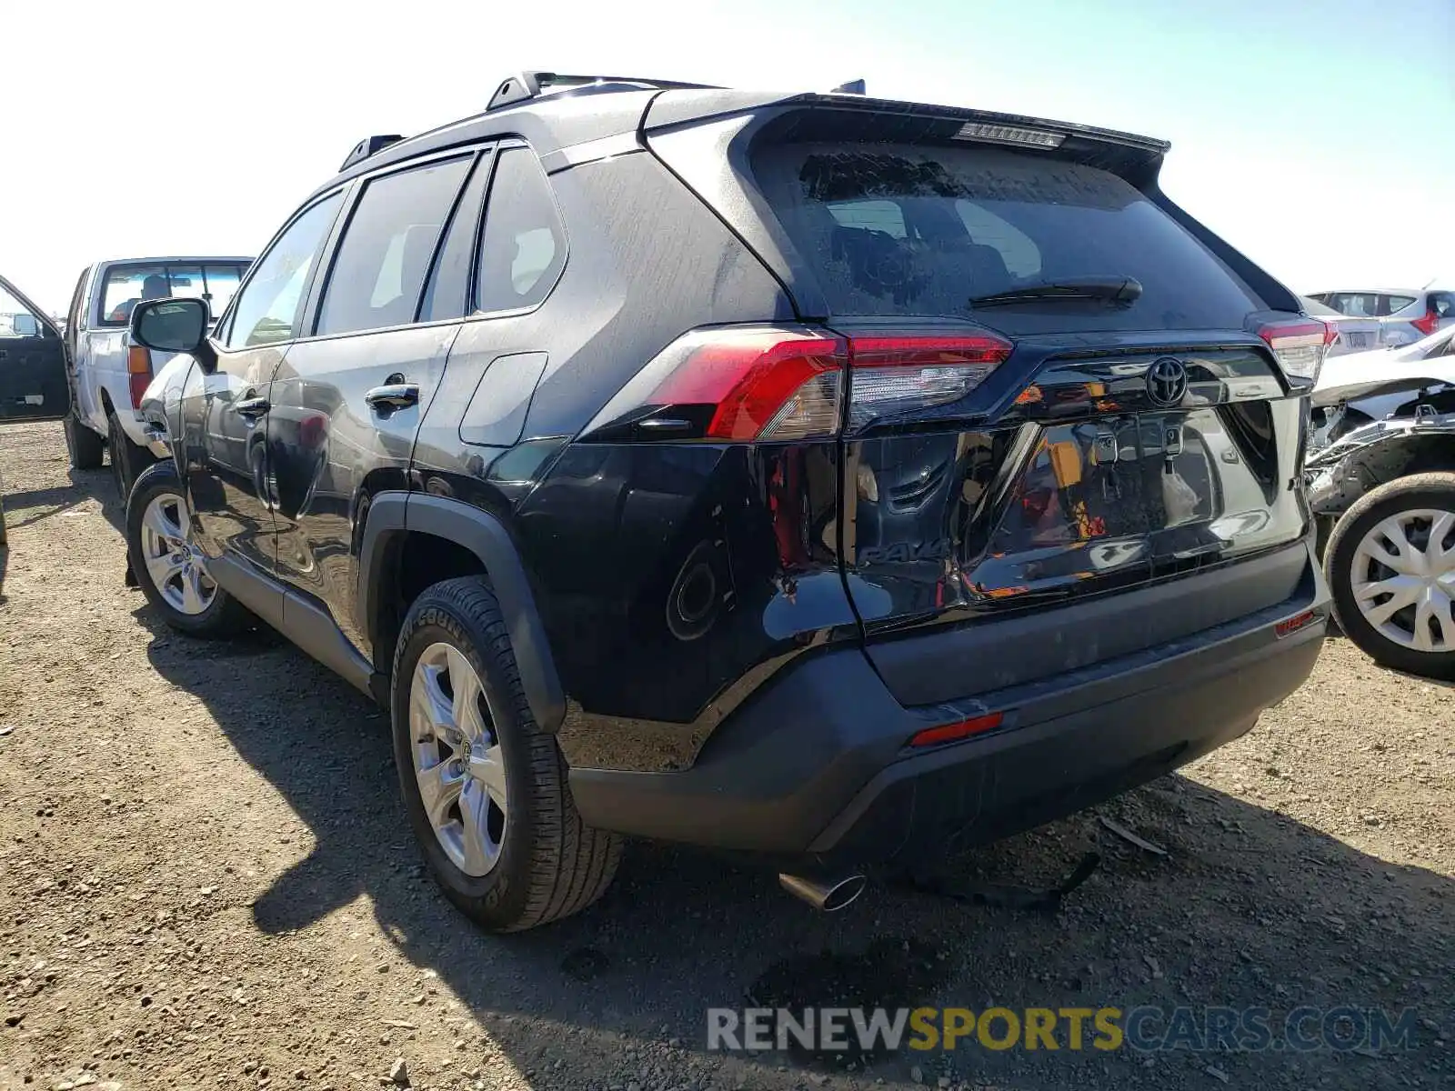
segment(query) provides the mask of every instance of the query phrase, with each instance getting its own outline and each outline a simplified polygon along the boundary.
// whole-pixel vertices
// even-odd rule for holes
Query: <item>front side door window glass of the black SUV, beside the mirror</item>
[[[313,205],[258,259],[228,320],[228,348],[272,345],[294,336],[303,289],[342,199],[342,193],[335,193]]]

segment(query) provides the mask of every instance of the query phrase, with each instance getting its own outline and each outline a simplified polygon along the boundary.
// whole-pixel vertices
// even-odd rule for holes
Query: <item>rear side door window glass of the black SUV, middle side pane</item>
[[[415,320],[429,259],[469,169],[469,159],[453,159],[368,183],[333,259],[317,333]]]

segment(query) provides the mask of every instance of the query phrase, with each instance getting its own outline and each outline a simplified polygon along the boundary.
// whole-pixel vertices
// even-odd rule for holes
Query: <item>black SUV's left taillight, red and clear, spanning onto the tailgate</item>
[[[693,330],[607,403],[592,439],[789,441],[861,429],[969,394],[1011,352],[985,332],[841,336],[787,326]]]

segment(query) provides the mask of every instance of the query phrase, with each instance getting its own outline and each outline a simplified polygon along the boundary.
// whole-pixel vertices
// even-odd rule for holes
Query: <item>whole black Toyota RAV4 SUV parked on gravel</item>
[[[1163,195],[1165,151],[512,77],[355,148],[211,335],[137,307],[192,362],[154,384],[132,570],[391,710],[489,928],[589,905],[624,835],[832,908],[1099,802],[1247,732],[1328,611],[1328,330]]]

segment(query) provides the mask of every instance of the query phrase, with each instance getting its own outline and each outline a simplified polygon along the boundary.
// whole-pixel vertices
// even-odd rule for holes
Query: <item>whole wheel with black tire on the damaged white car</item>
[[[1324,553],[1339,627],[1395,671],[1455,676],[1455,473],[1362,496]]]

